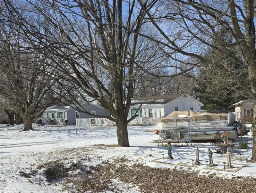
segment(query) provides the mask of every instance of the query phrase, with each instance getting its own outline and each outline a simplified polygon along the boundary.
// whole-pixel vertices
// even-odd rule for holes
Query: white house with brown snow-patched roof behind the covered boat
[[[161,96],[134,97],[131,101],[131,107],[128,117],[138,111],[138,117],[164,117],[173,111],[193,110],[200,112],[203,103],[194,99],[188,94],[166,94]]]

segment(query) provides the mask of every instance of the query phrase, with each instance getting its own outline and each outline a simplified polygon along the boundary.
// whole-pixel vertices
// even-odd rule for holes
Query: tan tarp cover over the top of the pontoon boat
[[[200,113],[196,111],[173,111],[171,114],[166,117],[160,118],[159,121],[162,123],[168,122],[184,122],[188,121],[187,119],[180,119],[179,115],[186,116],[186,118],[191,118],[192,121],[219,121],[227,120],[228,114],[221,113]],[[170,119],[170,118],[179,118],[179,119]]]

